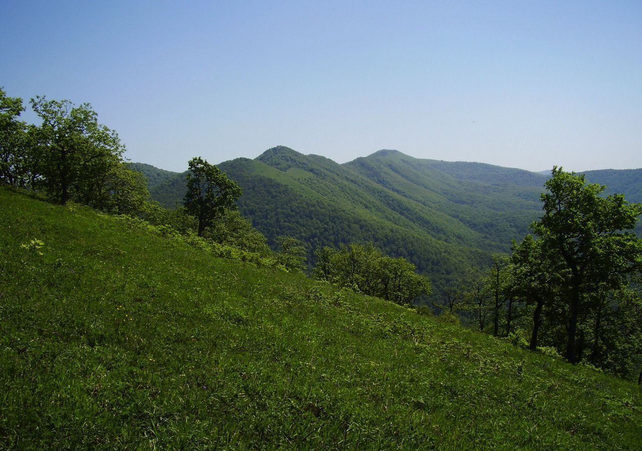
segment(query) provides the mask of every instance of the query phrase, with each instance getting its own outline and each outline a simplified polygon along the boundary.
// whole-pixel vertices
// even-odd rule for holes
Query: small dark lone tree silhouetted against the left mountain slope
[[[198,236],[203,236],[205,228],[227,210],[234,210],[242,193],[241,187],[218,167],[201,157],[189,160],[184,205],[198,219]]]

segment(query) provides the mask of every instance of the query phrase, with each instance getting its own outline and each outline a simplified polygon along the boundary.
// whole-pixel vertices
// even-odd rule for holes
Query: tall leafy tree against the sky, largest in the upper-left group
[[[100,203],[105,193],[97,185],[121,163],[125,151],[117,133],[98,124],[89,103],[75,106],[36,96],[31,107],[42,119],[35,133],[39,151],[33,170],[49,196],[63,205],[71,198]]]

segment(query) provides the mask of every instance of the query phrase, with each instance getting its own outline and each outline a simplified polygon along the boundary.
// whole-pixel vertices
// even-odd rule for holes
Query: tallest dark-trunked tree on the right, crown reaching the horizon
[[[578,318],[591,309],[600,289],[618,289],[639,271],[642,244],[635,234],[642,204],[627,203],[624,196],[601,197],[605,187],[586,185],[584,176],[553,167],[542,194],[544,215],[531,227],[539,235],[543,257],[562,262],[560,293],[568,307],[568,341],[565,357],[578,362]]]

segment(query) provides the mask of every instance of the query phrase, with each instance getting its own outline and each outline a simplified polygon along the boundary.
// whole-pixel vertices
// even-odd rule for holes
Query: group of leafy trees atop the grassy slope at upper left
[[[44,96],[30,105],[40,125],[20,121],[22,99],[0,89],[0,183],[44,191],[62,205],[72,200],[117,214],[143,209],[146,180],[126,166],[125,146],[91,105]]]

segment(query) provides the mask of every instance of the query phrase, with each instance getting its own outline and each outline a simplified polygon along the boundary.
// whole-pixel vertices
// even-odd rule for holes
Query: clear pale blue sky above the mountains
[[[642,167],[639,0],[3,0],[0,42],[9,96],[89,102],[164,169],[279,144]]]

